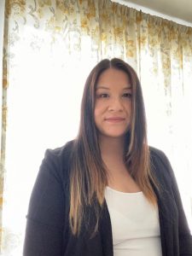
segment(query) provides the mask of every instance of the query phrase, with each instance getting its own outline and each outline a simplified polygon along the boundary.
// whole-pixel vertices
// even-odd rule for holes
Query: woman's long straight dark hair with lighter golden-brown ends
[[[126,136],[125,165],[148,201],[152,204],[156,203],[152,185],[157,187],[157,184],[150,171],[145,108],[137,73],[129,64],[120,59],[102,60],[92,69],[84,85],[79,134],[73,143],[69,222],[74,235],[80,232],[82,220],[85,217],[85,207],[91,205],[96,212],[97,229],[99,207],[102,207],[104,190],[108,185],[94,120],[96,84],[102,72],[108,68],[124,71],[131,81],[132,116],[131,129]],[[94,203],[95,200],[98,204]]]

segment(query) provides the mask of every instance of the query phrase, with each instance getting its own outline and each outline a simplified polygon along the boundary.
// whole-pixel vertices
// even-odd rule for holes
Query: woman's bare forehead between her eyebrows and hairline
[[[124,87],[131,87],[130,78],[127,73],[123,70],[116,68],[108,68],[99,76],[96,87],[101,87],[103,85],[119,85]]]

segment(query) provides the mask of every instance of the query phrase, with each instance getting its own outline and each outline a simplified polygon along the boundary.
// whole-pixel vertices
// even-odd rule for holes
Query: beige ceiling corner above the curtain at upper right
[[[192,0],[124,0],[124,3],[135,3],[164,15],[176,17],[191,23]]]

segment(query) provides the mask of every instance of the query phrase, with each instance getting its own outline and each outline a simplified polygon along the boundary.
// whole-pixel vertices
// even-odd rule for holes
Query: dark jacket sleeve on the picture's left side
[[[47,150],[26,216],[24,256],[62,255],[64,208],[61,166],[57,155]]]

